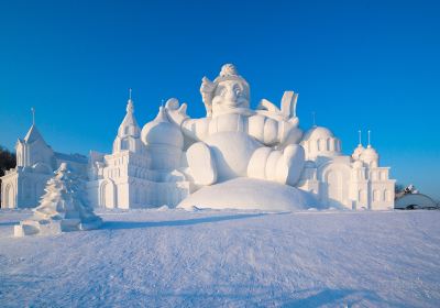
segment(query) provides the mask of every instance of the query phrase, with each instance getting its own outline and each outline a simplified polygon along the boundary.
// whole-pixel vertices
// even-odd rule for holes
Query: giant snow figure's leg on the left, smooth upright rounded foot
[[[216,161],[206,143],[197,142],[189,146],[186,157],[196,184],[211,185],[217,182]]]

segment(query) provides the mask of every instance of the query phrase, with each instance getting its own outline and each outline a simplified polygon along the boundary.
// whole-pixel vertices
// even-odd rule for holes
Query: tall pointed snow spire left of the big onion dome
[[[141,128],[134,118],[134,105],[133,100],[131,99],[130,89],[130,97],[127,102],[127,114],[119,127],[118,136],[114,139],[113,153],[121,151],[140,153],[142,152],[142,147]]]

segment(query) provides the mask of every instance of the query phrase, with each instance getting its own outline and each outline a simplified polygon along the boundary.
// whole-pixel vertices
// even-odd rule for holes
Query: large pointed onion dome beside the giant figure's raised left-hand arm
[[[179,127],[168,120],[163,107],[158,109],[157,117],[143,127],[141,139],[146,145],[160,144],[178,148],[184,147],[184,136]]]

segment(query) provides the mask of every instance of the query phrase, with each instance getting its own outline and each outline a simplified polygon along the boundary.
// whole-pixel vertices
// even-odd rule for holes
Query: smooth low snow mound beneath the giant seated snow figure
[[[311,194],[298,188],[240,177],[205,186],[184,199],[177,208],[295,211],[322,206]]]

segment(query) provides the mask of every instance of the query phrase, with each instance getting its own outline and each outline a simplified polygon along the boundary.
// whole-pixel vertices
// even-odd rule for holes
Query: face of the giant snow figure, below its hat
[[[240,80],[224,80],[217,85],[212,98],[212,114],[249,108],[249,88]]]

